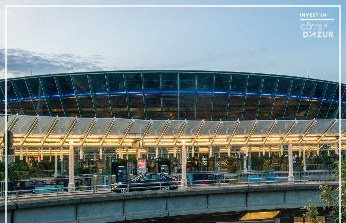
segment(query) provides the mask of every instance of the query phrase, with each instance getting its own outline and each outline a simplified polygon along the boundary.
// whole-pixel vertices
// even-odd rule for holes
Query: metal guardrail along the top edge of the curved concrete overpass
[[[126,186],[125,193],[129,193],[133,187],[130,187],[130,185],[144,185],[142,187],[135,187],[135,189],[156,189],[156,190],[163,190],[165,188],[172,188],[172,187],[180,187],[183,189],[193,189],[195,187],[201,187],[201,186],[213,186],[214,188],[222,188],[222,186],[229,186],[229,185],[244,185],[247,187],[250,187],[252,185],[261,185],[261,184],[288,184],[288,183],[303,183],[314,181],[311,180],[308,176],[300,176],[300,177],[268,177],[268,178],[244,178],[244,179],[213,179],[213,180],[194,180],[194,181],[172,181],[176,182],[178,185],[165,185],[167,182],[159,182],[159,185],[153,186],[151,183],[128,183],[128,184],[122,184],[123,186]],[[327,179],[326,179],[327,181]],[[335,181],[335,178],[331,178],[328,181]],[[172,183],[170,181],[170,183]],[[145,185],[150,186],[145,186]],[[163,185],[164,184],[164,185]],[[8,198],[15,198],[16,201],[18,201],[20,198],[35,198],[35,197],[51,197],[54,195],[54,197],[59,197],[62,195],[77,195],[81,192],[85,193],[86,191],[90,191],[92,193],[89,194],[96,194],[97,192],[109,192],[110,190],[114,190],[112,188],[114,185],[93,185],[93,186],[78,186],[78,187],[59,187],[59,188],[49,188],[50,191],[53,191],[51,193],[40,193],[40,191],[47,191],[47,189],[33,189],[33,190],[17,190],[17,191],[8,191]],[[84,190],[83,190],[84,189]],[[85,190],[87,189],[87,190]],[[68,191],[65,191],[68,190]],[[70,190],[70,191],[69,191]],[[169,190],[169,189],[168,189]],[[0,194],[4,194],[5,191],[0,192]],[[30,193],[30,194],[29,194]],[[0,199],[3,199],[4,196],[0,196]]]

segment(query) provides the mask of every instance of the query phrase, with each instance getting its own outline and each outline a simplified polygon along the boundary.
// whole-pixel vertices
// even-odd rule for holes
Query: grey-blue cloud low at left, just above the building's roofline
[[[103,64],[101,55],[79,56],[8,49],[8,77],[114,69]],[[0,72],[5,73],[5,49],[0,49]]]

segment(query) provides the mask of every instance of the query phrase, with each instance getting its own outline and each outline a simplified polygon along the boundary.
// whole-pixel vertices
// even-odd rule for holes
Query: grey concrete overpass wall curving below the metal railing
[[[336,182],[328,183],[337,186]],[[232,188],[197,188],[128,194],[82,195],[8,203],[9,223],[208,222],[239,220],[248,212],[293,211],[312,204],[321,184],[265,184]],[[4,221],[4,203],[0,220]]]

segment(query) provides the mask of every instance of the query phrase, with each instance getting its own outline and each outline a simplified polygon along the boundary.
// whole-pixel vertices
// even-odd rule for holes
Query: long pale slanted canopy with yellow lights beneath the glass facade
[[[341,149],[346,149],[346,120],[341,120]],[[3,136],[5,117],[0,117]],[[263,146],[275,151],[293,144],[293,150],[317,150],[339,142],[338,120],[293,121],[162,121],[116,118],[68,118],[8,116],[15,148],[67,147],[73,142],[83,148],[130,148],[134,139],[143,139],[145,148],[209,146],[220,151],[227,146],[259,151]],[[1,138],[1,145],[3,146]]]

